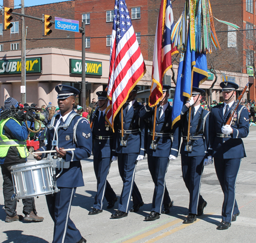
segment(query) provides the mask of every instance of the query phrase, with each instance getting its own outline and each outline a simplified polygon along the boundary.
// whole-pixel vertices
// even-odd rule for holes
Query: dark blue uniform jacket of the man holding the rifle
[[[224,104],[212,107],[210,114],[210,144],[209,155],[220,159],[234,159],[246,157],[243,137],[249,133],[249,115],[245,106],[239,105],[233,122],[230,124],[233,129],[231,137],[217,137],[217,133],[222,133],[221,128],[229,118],[230,110],[223,117]]]

